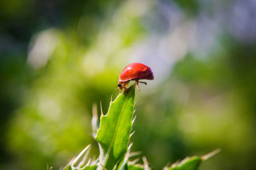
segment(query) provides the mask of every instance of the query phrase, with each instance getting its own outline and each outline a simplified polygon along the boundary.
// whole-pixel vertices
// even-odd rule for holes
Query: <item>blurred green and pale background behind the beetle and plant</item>
[[[132,151],[153,169],[255,169],[256,1],[0,1],[0,169],[59,169],[93,140],[124,66],[136,91]]]

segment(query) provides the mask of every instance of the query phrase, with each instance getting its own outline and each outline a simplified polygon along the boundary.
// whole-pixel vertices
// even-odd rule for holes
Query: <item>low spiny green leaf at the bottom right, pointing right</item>
[[[189,158],[185,158],[181,162],[177,162],[173,164],[169,168],[164,168],[164,169],[169,169],[169,170],[196,170],[200,166],[200,164],[204,161],[207,160],[209,157],[212,157],[213,155],[216,155],[216,153],[220,152],[220,150],[214,150],[211,153],[208,153],[207,155],[204,155],[202,157],[198,156],[193,156]]]

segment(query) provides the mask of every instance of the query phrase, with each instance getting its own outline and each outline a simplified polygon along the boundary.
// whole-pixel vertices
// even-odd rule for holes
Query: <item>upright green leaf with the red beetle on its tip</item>
[[[101,115],[100,128],[95,139],[100,146],[99,163],[113,169],[122,160],[130,139],[134,112],[135,84],[110,102],[108,113]]]

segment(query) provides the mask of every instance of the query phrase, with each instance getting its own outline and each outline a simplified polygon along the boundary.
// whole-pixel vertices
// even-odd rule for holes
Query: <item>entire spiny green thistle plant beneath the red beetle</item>
[[[100,126],[97,126],[97,114],[93,114],[92,128],[95,139],[99,143],[100,154],[98,158],[88,158],[90,145],[86,146],[79,155],[72,159],[63,169],[90,170],[90,169],[150,169],[147,159],[143,157],[143,164],[137,164],[138,158],[130,161],[131,157],[137,155],[130,153],[132,144],[129,144],[134,114],[135,84],[120,93],[115,101],[111,101],[108,113],[104,115],[101,111]],[[133,119],[132,119],[133,118]],[[169,170],[195,170],[201,162],[215,155],[219,150],[212,151],[203,157],[185,158],[181,162],[166,166]]]

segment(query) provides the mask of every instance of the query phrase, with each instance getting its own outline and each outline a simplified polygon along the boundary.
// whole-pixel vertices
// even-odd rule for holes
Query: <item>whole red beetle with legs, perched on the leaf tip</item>
[[[140,79],[154,80],[154,75],[149,66],[143,65],[141,63],[131,63],[130,65],[125,66],[124,70],[120,73],[118,88],[120,92],[122,89],[127,89],[127,86],[130,81],[136,81],[136,85],[140,90],[138,85]],[[147,82],[141,82],[147,85]]]

